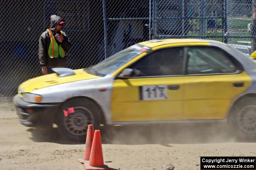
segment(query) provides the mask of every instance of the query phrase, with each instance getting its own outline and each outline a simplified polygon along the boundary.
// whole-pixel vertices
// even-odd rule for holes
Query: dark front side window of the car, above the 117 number
[[[165,48],[146,55],[129,68],[134,70],[134,77],[182,75],[183,57],[183,47]]]

